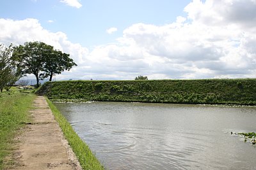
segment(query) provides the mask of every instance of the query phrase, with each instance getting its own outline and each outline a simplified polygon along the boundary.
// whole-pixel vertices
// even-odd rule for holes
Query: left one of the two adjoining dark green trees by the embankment
[[[15,48],[15,57],[22,67],[22,74],[34,74],[36,76],[36,87],[39,87],[39,80],[44,79],[42,73],[46,44],[42,42],[26,42],[24,46]]]

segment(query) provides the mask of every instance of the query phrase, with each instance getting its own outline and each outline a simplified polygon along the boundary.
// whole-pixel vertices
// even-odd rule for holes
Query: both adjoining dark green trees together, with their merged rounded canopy
[[[70,70],[77,64],[69,58],[69,54],[55,50],[53,46],[40,41],[26,42],[19,45],[13,53],[15,59],[19,60],[22,74],[34,74],[36,86],[39,87],[39,80],[50,76],[52,80],[54,74]]]

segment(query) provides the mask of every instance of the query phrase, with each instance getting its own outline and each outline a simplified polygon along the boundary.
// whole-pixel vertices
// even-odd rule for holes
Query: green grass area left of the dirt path
[[[13,150],[13,138],[17,130],[29,120],[29,110],[34,94],[24,94],[17,90],[0,93],[0,169],[8,166],[12,160],[6,160]],[[7,162],[6,162],[7,161]]]

